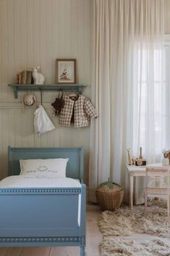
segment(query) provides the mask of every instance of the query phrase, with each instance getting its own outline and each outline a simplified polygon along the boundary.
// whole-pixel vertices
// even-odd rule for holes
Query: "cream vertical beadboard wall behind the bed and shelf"
[[[43,92],[43,105],[56,130],[33,133],[35,107],[14,99],[7,86],[21,70],[40,65],[46,83],[56,82],[56,59],[77,59],[77,82],[88,85],[90,97],[90,0],[0,1],[0,178],[7,176],[7,146],[84,146],[85,182],[88,183],[90,128],[65,128],[52,116],[51,102],[58,93]],[[38,102],[40,93],[35,92]]]

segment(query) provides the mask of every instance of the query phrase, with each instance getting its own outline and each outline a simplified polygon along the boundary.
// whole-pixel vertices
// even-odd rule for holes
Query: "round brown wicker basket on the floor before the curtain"
[[[95,195],[98,200],[98,205],[101,206],[101,210],[114,210],[119,208],[122,204],[124,189],[122,186],[117,184],[110,187],[109,183],[105,183],[105,185],[101,185],[98,187],[98,189],[96,189]]]

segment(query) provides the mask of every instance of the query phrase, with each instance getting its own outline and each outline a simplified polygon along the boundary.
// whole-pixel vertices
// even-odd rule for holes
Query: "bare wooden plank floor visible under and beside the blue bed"
[[[87,256],[100,256],[102,235],[98,229],[98,207],[87,210]],[[79,247],[0,247],[0,256],[80,256]]]

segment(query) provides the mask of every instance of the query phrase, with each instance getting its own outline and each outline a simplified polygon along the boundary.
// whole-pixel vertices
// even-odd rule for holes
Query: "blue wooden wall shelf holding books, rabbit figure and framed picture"
[[[83,84],[70,83],[70,84],[9,84],[9,87],[14,90],[14,98],[17,99],[18,91],[75,91],[79,94],[82,93],[82,88],[85,88]]]

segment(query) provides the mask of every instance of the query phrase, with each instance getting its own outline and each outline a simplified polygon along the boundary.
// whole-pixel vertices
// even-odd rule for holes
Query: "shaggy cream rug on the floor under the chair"
[[[163,201],[150,202],[147,217],[144,216],[143,205],[132,210],[124,206],[114,212],[102,212],[98,221],[103,234],[101,255],[170,256],[166,207]]]

